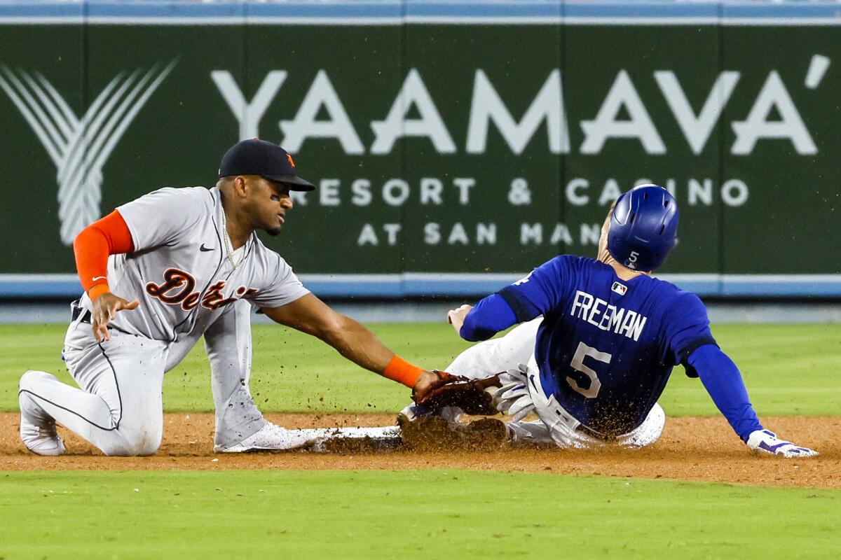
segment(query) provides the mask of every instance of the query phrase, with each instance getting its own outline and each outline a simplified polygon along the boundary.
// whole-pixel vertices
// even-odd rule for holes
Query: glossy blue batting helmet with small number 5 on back
[[[635,186],[616,199],[607,251],[631,270],[659,268],[677,243],[678,204],[659,185]]]

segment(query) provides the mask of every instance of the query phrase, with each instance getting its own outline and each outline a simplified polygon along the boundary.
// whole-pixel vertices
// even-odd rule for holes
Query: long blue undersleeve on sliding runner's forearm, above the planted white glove
[[[717,346],[706,344],[690,354],[688,363],[701,377],[706,392],[743,442],[748,441],[751,432],[762,429],[748,400],[742,374],[727,354]]]

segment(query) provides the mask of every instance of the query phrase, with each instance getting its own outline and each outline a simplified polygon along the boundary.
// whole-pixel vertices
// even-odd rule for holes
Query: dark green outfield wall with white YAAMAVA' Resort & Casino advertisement
[[[664,272],[838,281],[832,18],[537,4],[0,12],[0,273],[71,273],[87,223],[161,186],[212,186],[225,149],[259,136],[319,187],[263,237],[304,275],[594,254],[611,201],[653,181],[681,209]]]

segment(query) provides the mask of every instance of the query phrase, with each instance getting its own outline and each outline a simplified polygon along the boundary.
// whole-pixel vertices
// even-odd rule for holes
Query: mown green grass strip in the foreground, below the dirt
[[[6,560],[841,555],[837,490],[457,470],[0,480]]]

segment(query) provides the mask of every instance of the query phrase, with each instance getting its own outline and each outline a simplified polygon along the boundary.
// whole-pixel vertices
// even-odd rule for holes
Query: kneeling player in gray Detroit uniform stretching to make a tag
[[[155,453],[161,390],[204,335],[216,404],[216,451],[304,446],[319,433],[263,419],[248,391],[251,306],[314,335],[346,359],[422,394],[436,374],[395,356],[372,332],[311,294],[256,230],[276,235],[312,191],[292,157],[258,139],[223,157],[214,188],[164,188],[117,208],[74,243],[85,294],[72,305],[64,359],[79,389],[42,371],[20,379],[20,436],[41,455],[65,446],[56,421],[108,455]]]

